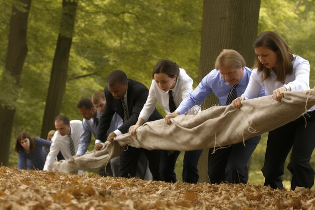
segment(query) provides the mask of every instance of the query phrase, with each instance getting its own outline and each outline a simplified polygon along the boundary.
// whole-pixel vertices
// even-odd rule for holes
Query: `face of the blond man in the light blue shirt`
[[[227,82],[229,85],[236,85],[243,78],[244,66],[240,68],[239,67],[220,67],[219,72],[225,82]]]

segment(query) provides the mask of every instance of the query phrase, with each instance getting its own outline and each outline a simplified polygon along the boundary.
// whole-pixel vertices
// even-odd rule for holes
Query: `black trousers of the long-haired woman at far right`
[[[281,176],[286,157],[292,148],[288,164],[288,169],[292,173],[291,189],[294,190],[296,186],[305,188],[313,186],[315,173],[309,161],[315,147],[315,111],[308,114],[304,114],[305,118],[301,116],[269,132],[262,168],[264,185],[283,189]]]

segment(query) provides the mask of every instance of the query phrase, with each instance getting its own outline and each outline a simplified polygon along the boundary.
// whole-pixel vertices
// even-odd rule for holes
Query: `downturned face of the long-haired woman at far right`
[[[267,47],[256,47],[255,53],[259,61],[267,68],[277,68],[278,54]]]

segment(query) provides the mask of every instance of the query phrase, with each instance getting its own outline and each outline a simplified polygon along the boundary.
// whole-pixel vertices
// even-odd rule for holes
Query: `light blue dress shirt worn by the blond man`
[[[242,80],[238,83],[238,86],[236,87],[238,97],[240,97],[246,90],[246,87],[250,81],[251,73],[252,71],[250,68],[244,67]],[[231,88],[232,86],[223,80],[220,72],[217,69],[213,69],[202,79],[197,88],[187,95],[187,97],[183,100],[176,111],[184,114],[194,105],[200,106],[211,92],[213,92],[219,99],[218,105],[225,106],[226,98]],[[257,93],[257,97],[260,96],[265,96],[265,89],[262,87]]]

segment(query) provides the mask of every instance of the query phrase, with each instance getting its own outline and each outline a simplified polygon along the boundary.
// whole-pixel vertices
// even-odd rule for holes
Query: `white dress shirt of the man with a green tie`
[[[83,133],[82,121],[71,120],[70,127],[71,127],[70,133],[71,133],[72,141],[74,144],[74,151],[76,152],[78,148],[78,144],[80,142],[80,136]],[[49,149],[50,151],[46,158],[44,171],[51,170],[59,151],[61,152],[65,160],[68,160],[71,157],[69,135],[66,134],[62,136],[58,133],[58,131],[56,131],[51,141],[52,143]]]

